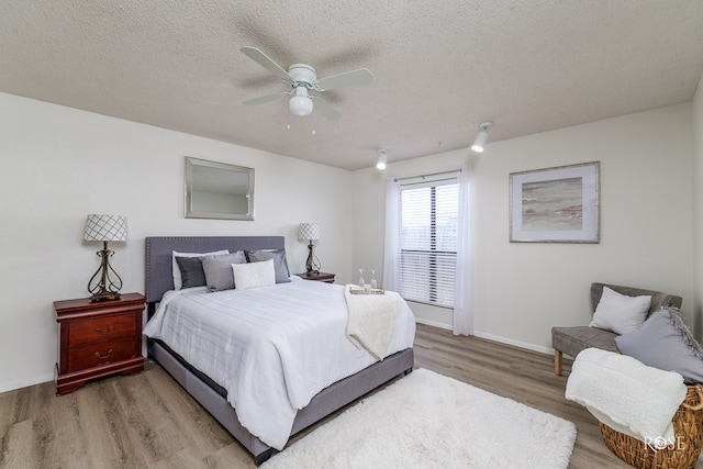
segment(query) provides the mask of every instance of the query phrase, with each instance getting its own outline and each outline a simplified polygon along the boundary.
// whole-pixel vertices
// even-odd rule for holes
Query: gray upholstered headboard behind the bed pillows
[[[283,236],[153,236],[146,238],[146,302],[161,300],[174,289],[171,253],[210,253],[286,247]]]

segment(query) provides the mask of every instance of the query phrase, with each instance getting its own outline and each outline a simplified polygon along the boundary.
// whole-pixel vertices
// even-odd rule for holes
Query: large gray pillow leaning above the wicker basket
[[[703,347],[676,309],[661,309],[637,331],[615,338],[617,348],[650,367],[677,371],[688,383],[703,382]]]

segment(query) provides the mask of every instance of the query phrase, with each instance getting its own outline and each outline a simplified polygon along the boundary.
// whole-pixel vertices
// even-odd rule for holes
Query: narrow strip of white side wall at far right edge
[[[695,249],[695,334],[703,336],[703,76],[693,97],[693,239]]]

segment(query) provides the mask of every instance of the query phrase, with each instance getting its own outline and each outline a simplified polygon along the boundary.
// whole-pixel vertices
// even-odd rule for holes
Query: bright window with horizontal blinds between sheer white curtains
[[[458,211],[456,178],[401,187],[397,288],[405,300],[454,306]]]

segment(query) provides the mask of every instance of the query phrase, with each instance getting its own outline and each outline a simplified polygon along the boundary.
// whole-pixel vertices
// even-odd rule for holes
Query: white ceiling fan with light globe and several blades
[[[281,91],[259,98],[244,101],[243,104],[263,104],[265,102],[290,97],[288,109],[295,115],[308,115],[312,112],[313,100],[317,110],[327,119],[339,119],[341,114],[327,101],[320,96],[311,94],[310,91],[323,92],[339,88],[368,85],[373,81],[373,75],[366,68],[359,68],[332,77],[317,79],[315,69],[306,64],[292,64],[288,71],[271,60],[266,54],[256,47],[242,47],[239,51],[247,57],[259,64],[261,67],[276,75],[281,80],[290,85],[289,91]]]

